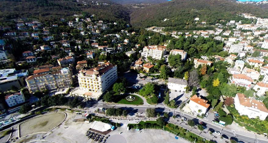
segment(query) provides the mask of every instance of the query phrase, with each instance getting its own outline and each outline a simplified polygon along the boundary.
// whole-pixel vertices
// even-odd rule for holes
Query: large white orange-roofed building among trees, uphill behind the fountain
[[[148,56],[151,56],[154,59],[161,59],[163,58],[163,55],[166,55],[167,50],[165,46],[145,46],[143,48],[143,52],[141,53],[141,56],[147,58]]]

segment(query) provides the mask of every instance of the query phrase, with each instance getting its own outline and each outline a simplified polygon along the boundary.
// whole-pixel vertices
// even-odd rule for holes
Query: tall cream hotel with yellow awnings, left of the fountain
[[[71,95],[99,99],[99,97],[117,80],[117,66],[109,62],[77,74],[79,88]]]

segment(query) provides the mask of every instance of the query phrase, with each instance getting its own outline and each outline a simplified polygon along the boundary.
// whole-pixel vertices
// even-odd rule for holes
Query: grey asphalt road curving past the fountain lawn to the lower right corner
[[[97,105],[95,104],[95,106],[96,107],[104,107],[103,104],[97,104]],[[128,107],[121,106],[121,105],[116,105],[116,106],[115,105],[105,105],[105,108],[112,108],[112,107],[114,107],[114,108],[123,108],[124,110],[126,109],[126,110],[128,110],[129,112],[132,112],[132,113],[145,113],[145,110],[147,108],[156,108],[156,112],[160,112],[160,113],[169,112],[170,111],[168,108],[156,107],[154,105],[152,105],[152,107],[142,107],[142,105],[140,105],[140,106],[136,106],[136,105],[134,105],[134,106],[132,105],[131,106],[130,105]],[[256,138],[253,138],[253,137],[248,137],[248,136],[245,136],[243,134],[237,134],[237,133],[235,133],[235,131],[233,133],[233,131],[230,130],[230,129],[226,129],[226,128],[223,129],[221,126],[218,126],[218,125],[213,124],[211,122],[207,122],[204,119],[197,119],[196,116],[193,116],[193,115],[186,114],[186,113],[183,113],[181,111],[175,110],[174,115],[177,115],[177,114],[179,114],[181,117],[185,117],[187,120],[192,119],[196,123],[197,122],[199,122],[199,123],[200,122],[205,122],[207,124],[206,125],[207,126],[207,130],[209,128],[212,128],[215,131],[221,132],[221,135],[225,134],[226,136],[229,137],[229,139],[231,137],[236,137],[238,139],[238,141],[244,141],[245,143],[267,143],[268,142],[268,140],[262,140],[262,139],[258,139],[257,140]]]

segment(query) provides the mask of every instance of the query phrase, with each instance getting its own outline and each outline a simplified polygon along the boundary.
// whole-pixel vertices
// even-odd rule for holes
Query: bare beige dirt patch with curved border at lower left
[[[20,137],[38,132],[48,132],[65,119],[65,113],[43,115],[19,125]]]

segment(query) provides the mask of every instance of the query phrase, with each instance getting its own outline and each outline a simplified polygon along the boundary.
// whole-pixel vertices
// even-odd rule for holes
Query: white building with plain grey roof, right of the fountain
[[[185,79],[168,77],[168,89],[177,90],[178,92],[185,92],[188,85]]]

